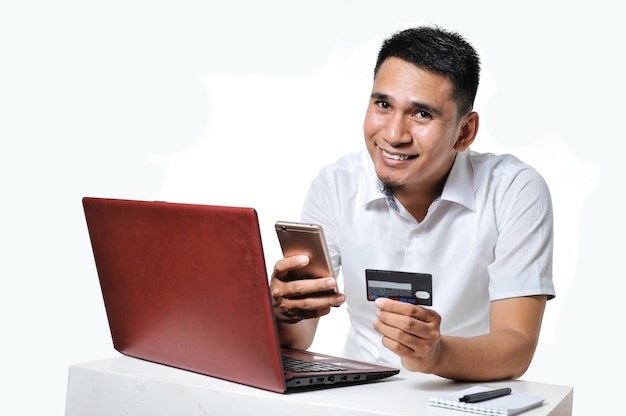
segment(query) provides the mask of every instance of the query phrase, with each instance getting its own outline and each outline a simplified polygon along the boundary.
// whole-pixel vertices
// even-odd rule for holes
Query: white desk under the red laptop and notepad
[[[278,394],[119,356],[70,366],[65,415],[459,416],[467,413],[428,406],[428,397],[472,384],[403,371],[371,384]],[[524,416],[572,414],[572,387],[521,380],[479,384],[545,397],[542,407]]]

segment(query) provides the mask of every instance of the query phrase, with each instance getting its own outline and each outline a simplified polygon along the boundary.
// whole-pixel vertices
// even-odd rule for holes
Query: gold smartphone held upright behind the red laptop
[[[290,278],[336,277],[322,226],[302,222],[277,221],[275,228],[285,257],[304,254],[309,258],[308,265],[289,272]]]

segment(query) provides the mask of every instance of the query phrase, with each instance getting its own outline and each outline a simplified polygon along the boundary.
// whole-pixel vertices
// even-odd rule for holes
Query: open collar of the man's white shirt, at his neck
[[[469,157],[470,151],[457,153],[452,169],[446,180],[441,193],[442,200],[456,202],[466,206],[472,211],[476,210],[474,201],[474,184],[472,182],[472,164]],[[385,195],[380,192],[379,180],[376,176],[374,163],[369,161],[370,186],[365,188],[363,195],[363,205],[368,205],[374,201],[385,200]]]

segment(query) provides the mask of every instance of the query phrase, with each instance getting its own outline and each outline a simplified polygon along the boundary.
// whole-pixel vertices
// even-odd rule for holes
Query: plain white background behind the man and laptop
[[[524,379],[610,413],[626,370],[620,16],[602,0],[0,3],[0,413],[62,414],[68,366],[117,354],[83,196],[255,207],[271,267],[273,222],[362,146],[380,42],[425,23],[481,54],[473,148],[518,155],[552,190],[557,298]],[[345,325],[333,311],[314,347],[340,351]]]

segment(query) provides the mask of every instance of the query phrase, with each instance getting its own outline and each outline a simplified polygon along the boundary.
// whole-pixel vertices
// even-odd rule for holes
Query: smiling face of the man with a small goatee
[[[363,123],[378,177],[402,192],[431,191],[444,180],[459,147],[463,118],[452,83],[399,58],[387,59],[374,80]]]

